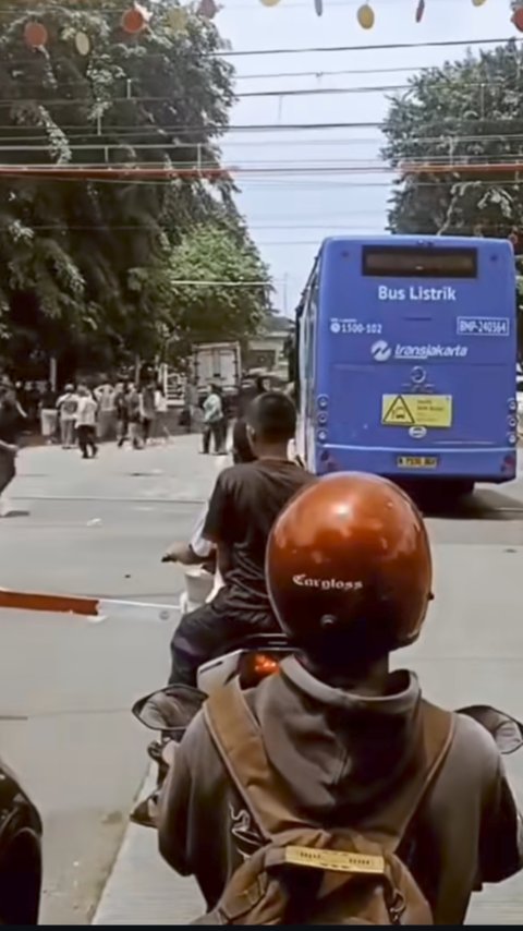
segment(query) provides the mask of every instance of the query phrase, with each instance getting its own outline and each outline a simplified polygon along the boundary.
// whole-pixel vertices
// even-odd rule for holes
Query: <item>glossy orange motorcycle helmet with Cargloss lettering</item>
[[[282,630],[328,666],[412,643],[431,598],[419,511],[392,482],[360,472],[319,479],[290,501],[269,537],[266,575]]]

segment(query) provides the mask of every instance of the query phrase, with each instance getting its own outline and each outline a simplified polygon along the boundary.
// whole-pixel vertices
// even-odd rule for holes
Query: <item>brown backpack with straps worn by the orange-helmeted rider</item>
[[[357,834],[304,821],[267,759],[238,680],[204,705],[207,727],[263,846],[194,924],[433,924],[398,847],[450,748],[453,716],[423,702],[421,772],[387,806],[387,830]]]

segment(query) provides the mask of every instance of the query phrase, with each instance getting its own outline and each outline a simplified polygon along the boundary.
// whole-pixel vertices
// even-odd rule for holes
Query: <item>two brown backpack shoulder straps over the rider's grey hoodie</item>
[[[289,789],[270,764],[259,726],[238,678],[212,692],[204,704],[204,716],[229,776],[265,839],[268,842],[296,824],[306,825],[295,811]],[[385,803],[387,826],[376,837],[391,851],[401,843],[452,743],[453,714],[423,701],[422,722],[424,746],[419,759],[424,765]]]

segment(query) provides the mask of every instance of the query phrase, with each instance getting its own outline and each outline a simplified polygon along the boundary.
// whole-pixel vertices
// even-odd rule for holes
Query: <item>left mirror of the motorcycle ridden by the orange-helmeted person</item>
[[[206,698],[205,692],[190,686],[167,686],[138,699],[132,713],[150,730],[185,730]]]

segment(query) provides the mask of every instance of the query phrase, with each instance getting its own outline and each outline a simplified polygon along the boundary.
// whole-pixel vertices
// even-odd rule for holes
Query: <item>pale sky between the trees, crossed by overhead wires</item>
[[[282,126],[379,124],[387,113],[388,97],[394,93],[384,88],[391,85],[403,88],[409,75],[419,68],[462,58],[467,40],[504,39],[521,34],[510,22],[509,0],[485,0],[482,7],[474,7],[473,0],[425,0],[421,23],[415,22],[418,0],[370,0],[376,21],[368,31],[362,29],[356,20],[362,0],[324,0],[323,16],[316,15],[314,0],[280,0],[270,8],[260,0],[221,2],[216,25],[235,52],[357,47],[345,51],[230,58],[236,68],[239,95],[259,92],[273,95],[238,100],[231,126],[262,124],[272,129],[256,132],[231,129],[223,137],[222,152],[227,166],[270,169],[263,177],[241,171],[235,176],[241,189],[238,204],[269,265],[276,288],[275,304],[292,315],[326,235],[376,233],[386,229],[392,176],[382,171],[379,152],[384,137],[378,126],[292,131]],[[461,40],[464,40],[462,46],[447,48],[360,48]],[[300,76],[292,76],[296,72]],[[352,88],[352,93],[289,95],[292,90],[321,88]],[[358,162],[367,169],[369,165],[381,167],[381,171],[346,171],[351,166],[357,168]],[[299,168],[306,173],[296,174]],[[338,168],[337,173],[333,168]],[[289,169],[294,173],[289,173]]]

